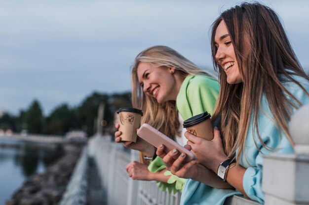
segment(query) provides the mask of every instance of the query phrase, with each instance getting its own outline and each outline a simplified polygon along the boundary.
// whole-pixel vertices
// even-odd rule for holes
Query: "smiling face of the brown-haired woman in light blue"
[[[227,82],[229,84],[241,83],[242,78],[239,72],[234,47],[224,21],[221,21],[217,27],[215,45],[218,49],[215,58],[227,74]]]

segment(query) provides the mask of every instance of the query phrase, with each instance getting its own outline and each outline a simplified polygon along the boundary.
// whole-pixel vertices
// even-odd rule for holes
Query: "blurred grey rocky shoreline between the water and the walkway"
[[[70,146],[64,156],[42,174],[35,174],[5,205],[58,205],[73,173],[82,146]]]

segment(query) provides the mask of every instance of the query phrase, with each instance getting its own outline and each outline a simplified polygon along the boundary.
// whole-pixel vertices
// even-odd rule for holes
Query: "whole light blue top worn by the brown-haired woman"
[[[302,83],[302,86],[309,92],[308,80],[300,77],[295,77],[295,79]],[[289,82],[285,83],[284,86],[301,103],[309,104],[309,96],[297,84]],[[288,98],[290,99],[290,97]],[[293,108],[293,113],[295,111],[296,109]],[[278,130],[275,126],[273,116],[265,97],[261,99],[261,107],[258,113],[258,130],[262,142],[265,143],[267,147],[271,147],[271,149],[262,146],[262,143],[257,138],[256,128],[251,118],[245,142],[245,154],[242,154],[239,164],[247,169],[243,176],[244,191],[252,200],[264,203],[264,193],[262,192],[263,155],[269,155],[274,152],[293,153],[294,151],[282,130]],[[260,148],[260,151],[257,147]],[[240,192],[235,190],[216,189],[189,179],[186,181],[183,188],[180,204],[223,205],[226,198],[240,194]]]

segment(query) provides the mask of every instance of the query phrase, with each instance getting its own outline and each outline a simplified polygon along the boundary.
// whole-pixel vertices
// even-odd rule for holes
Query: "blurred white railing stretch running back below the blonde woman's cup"
[[[122,144],[102,136],[94,136],[88,145],[107,205],[179,205],[180,193],[162,192],[154,181],[133,180],[128,176],[125,166],[133,160],[138,161],[136,151],[125,150]]]

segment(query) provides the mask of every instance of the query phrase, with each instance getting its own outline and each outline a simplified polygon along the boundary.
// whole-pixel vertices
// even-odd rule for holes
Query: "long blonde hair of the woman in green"
[[[184,77],[187,75],[206,75],[204,70],[167,46],[153,46],[137,55],[131,71],[132,105],[143,111],[142,123],[148,123],[167,136],[178,134],[178,114],[175,101],[157,103],[156,99],[143,93],[137,78],[137,67],[140,62],[147,62],[156,67],[175,68]],[[210,76],[211,77],[211,76]]]

